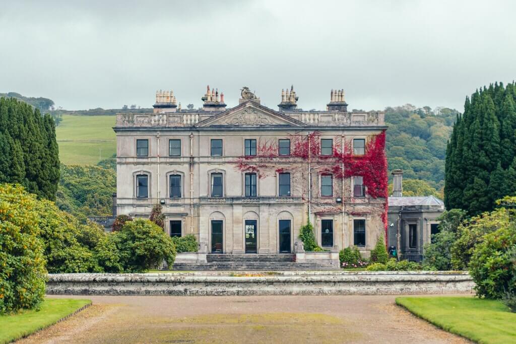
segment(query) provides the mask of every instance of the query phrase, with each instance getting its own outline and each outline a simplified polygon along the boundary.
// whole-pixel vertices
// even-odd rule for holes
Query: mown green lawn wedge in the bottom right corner
[[[516,313],[502,302],[469,297],[396,298],[416,316],[479,343],[516,342]]]

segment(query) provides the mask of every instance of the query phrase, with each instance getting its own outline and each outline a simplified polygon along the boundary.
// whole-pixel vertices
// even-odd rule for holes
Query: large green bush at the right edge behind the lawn
[[[502,299],[516,293],[516,225],[486,234],[476,245],[470,275],[479,297]]]

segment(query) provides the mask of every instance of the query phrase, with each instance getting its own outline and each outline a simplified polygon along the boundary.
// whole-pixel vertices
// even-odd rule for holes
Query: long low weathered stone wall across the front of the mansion
[[[49,274],[46,292],[59,295],[381,295],[470,293],[473,286],[471,276],[461,272],[339,271],[242,277],[206,273],[79,273]]]

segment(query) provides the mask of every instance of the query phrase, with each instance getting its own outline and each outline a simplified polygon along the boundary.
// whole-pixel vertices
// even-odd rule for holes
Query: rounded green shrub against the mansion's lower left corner
[[[149,220],[127,222],[116,234],[120,262],[126,272],[145,272],[163,260],[174,264],[175,246],[163,228]]]

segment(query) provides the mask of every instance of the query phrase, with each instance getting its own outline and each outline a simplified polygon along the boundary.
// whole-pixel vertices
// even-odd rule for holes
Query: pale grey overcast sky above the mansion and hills
[[[248,86],[277,109],[411,103],[463,110],[482,85],[516,78],[515,1],[0,0],[0,92],[66,109],[151,107],[206,85],[238,104]]]

